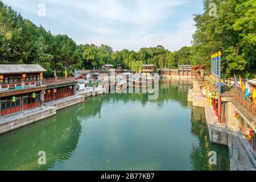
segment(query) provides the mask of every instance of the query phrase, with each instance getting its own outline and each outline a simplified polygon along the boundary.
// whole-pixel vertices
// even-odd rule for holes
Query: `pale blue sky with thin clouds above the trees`
[[[2,0],[52,34],[67,34],[77,44],[106,44],[114,51],[162,45],[170,51],[190,46],[193,14],[203,0]],[[39,4],[46,16],[39,16]]]

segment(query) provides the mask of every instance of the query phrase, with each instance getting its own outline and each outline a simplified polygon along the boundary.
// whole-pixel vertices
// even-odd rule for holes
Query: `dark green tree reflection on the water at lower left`
[[[68,159],[77,147],[81,123],[76,111],[84,104],[73,106],[69,114],[60,110],[54,117],[33,123],[0,136],[0,170],[48,169],[58,160]],[[65,114],[65,118],[59,119]],[[38,152],[45,151],[47,164],[38,165]]]

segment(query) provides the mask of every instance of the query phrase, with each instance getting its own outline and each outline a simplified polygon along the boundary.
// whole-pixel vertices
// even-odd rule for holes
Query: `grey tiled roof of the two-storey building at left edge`
[[[39,64],[0,64],[0,75],[47,72]]]

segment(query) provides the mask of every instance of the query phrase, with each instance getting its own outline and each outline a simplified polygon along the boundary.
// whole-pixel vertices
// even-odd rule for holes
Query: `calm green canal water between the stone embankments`
[[[105,94],[0,135],[0,170],[228,170],[228,147],[209,140],[188,80],[160,80],[159,97]],[[39,151],[46,164],[39,165]],[[209,164],[216,151],[217,164]]]

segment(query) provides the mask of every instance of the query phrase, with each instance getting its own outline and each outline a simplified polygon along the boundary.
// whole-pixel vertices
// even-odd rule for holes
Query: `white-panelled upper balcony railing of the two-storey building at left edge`
[[[7,92],[11,90],[19,90],[24,88],[34,88],[36,86],[41,86],[40,81],[24,82],[24,84],[22,83],[4,84],[4,85],[0,85],[0,92]]]

